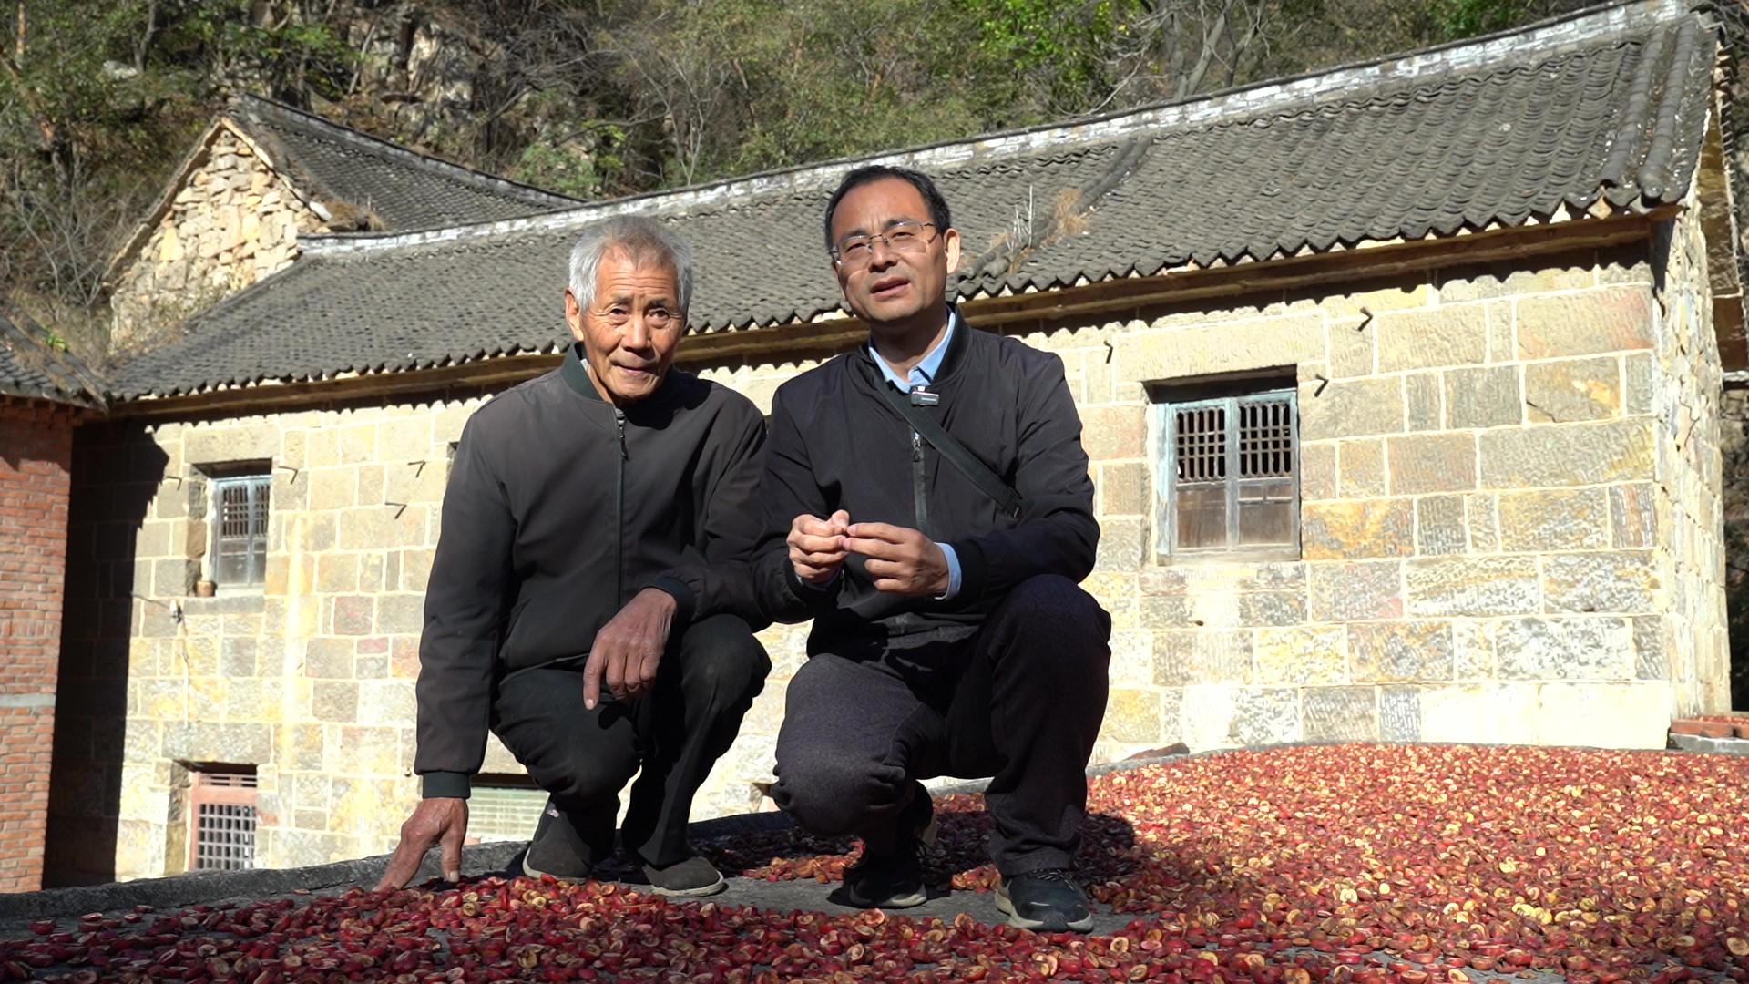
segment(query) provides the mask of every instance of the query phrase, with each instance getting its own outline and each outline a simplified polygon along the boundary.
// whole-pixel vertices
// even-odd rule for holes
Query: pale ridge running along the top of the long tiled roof
[[[1161,131],[1177,126],[1238,124],[1258,119],[1270,110],[1317,105],[1320,95],[1350,95],[1354,100],[1327,100],[1322,105],[1347,105],[1375,98],[1387,82],[1406,82],[1422,77],[1455,75],[1497,65],[1506,54],[1527,49],[1560,49],[1620,35],[1632,28],[1646,28],[1690,16],[1688,0],[1613,0],[1586,7],[1560,18],[1534,25],[1446,42],[1434,47],[1394,53],[1366,61],[1340,65],[1300,75],[1266,79],[1249,86],[1223,89],[1203,96],[1189,96],[1076,117],[1048,124],[1000,130],[936,144],[922,144],[897,151],[881,151],[854,158],[836,158],[787,168],[773,168],[752,175],[721,179],[677,189],[647,191],[605,201],[589,201],[577,208],[495,219],[462,226],[406,229],[397,233],[329,233],[304,236],[306,256],[395,250],[406,247],[490,238],[504,233],[549,231],[574,228],[595,219],[621,215],[659,203],[675,210],[715,205],[729,198],[759,196],[771,191],[803,191],[834,182],[847,168],[859,165],[902,165],[920,170],[950,170],[992,156],[1063,147],[1067,144],[1118,142],[1139,131]],[[1308,100],[1313,100],[1308,103]]]

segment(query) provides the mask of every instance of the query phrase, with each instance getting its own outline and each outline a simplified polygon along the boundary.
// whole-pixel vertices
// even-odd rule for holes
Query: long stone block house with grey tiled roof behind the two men
[[[1116,627],[1098,760],[1656,748],[1730,706],[1716,51],[1686,5],[1635,2],[871,158],[939,179],[967,317],[1076,390]],[[191,865],[215,776],[255,804],[250,863],[388,849],[448,455],[556,366],[575,231],[680,229],[680,359],[768,404],[864,336],[819,245],[847,166],[304,233],[122,364],[73,448],[52,877]],[[773,676],[696,816],[761,805],[803,630],[764,637]],[[539,797],[502,749],[486,772],[476,832],[526,835]]]

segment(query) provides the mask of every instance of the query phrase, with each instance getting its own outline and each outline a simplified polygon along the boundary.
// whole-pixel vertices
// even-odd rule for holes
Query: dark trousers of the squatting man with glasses
[[[1039,576],[967,639],[899,639],[876,660],[817,653],[789,683],[771,797],[805,830],[874,846],[890,840],[913,779],[990,776],[997,870],[1070,867],[1109,639],[1091,595]]]

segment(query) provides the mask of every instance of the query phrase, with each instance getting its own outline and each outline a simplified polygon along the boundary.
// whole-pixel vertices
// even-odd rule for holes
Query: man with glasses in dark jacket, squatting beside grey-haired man
[[[771,795],[861,835],[836,898],[897,909],[927,898],[920,779],[988,776],[999,907],[1084,931],[1070,867],[1111,618],[1077,587],[1098,524],[1062,361],[946,301],[960,235],[916,172],[845,175],[826,247],[869,341],[771,403],[759,592],[780,622],[813,618]]]

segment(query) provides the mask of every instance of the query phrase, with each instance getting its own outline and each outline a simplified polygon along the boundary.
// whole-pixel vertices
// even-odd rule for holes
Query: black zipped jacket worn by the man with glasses
[[[958,319],[958,312],[951,312]],[[1081,448],[1081,417],[1062,359],[976,331],[964,319],[948,341],[932,389],[936,420],[1020,492],[1018,520],[1000,513],[876,389],[890,387],[866,347],[796,376],[771,401],[771,436],[761,483],[764,538],[759,595],[778,622],[813,618],[808,653],[873,655],[885,639],[955,627],[971,634],[1018,583],[1034,574],[1074,581],[1093,569],[1098,522]],[[803,513],[850,513],[850,522],[920,529],[953,546],[960,592],[948,601],[874,590],[852,555],[829,590],[796,580],[791,522]]]

